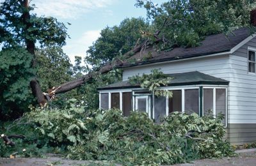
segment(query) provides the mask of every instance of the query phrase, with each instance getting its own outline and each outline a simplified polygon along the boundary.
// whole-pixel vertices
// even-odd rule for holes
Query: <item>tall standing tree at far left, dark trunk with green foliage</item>
[[[67,28],[63,23],[53,17],[31,14],[33,5],[29,4],[29,0],[5,0],[1,3],[1,60],[6,59],[0,61],[1,111],[4,103],[9,102],[12,103],[8,105],[19,108],[20,102],[29,98],[29,84],[38,103],[44,105],[45,97],[35,72],[36,45],[42,48],[61,47],[67,38]],[[18,73],[19,76],[14,77]]]

